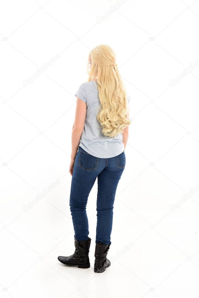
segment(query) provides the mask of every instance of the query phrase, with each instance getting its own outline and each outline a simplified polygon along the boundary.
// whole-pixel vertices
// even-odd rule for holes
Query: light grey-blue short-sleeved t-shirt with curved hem
[[[97,120],[100,108],[97,82],[82,83],[77,89],[75,96],[83,100],[87,107],[80,147],[89,154],[100,158],[111,158],[122,153],[124,151],[122,134],[114,138],[105,136],[102,134],[102,128],[100,128],[100,123]],[[127,99],[129,103],[129,95]]]

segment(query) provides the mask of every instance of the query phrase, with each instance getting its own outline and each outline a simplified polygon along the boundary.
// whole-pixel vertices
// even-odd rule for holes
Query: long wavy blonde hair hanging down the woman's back
[[[89,70],[89,61],[91,68]],[[97,79],[100,108],[97,120],[102,134],[113,138],[130,125],[127,94],[121,80],[113,49],[106,44],[96,46],[88,56],[88,82]]]

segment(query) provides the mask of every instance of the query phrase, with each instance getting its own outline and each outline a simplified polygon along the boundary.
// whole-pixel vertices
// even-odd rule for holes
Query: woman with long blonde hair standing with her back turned
[[[89,70],[90,69],[90,70]],[[75,94],[77,105],[72,129],[72,175],[70,211],[74,226],[75,252],[59,256],[66,265],[89,268],[88,195],[97,178],[97,229],[94,272],[111,265],[106,258],[111,245],[113,205],[119,179],[125,168],[128,140],[129,96],[121,80],[115,52],[99,45],[88,56],[88,82]]]

